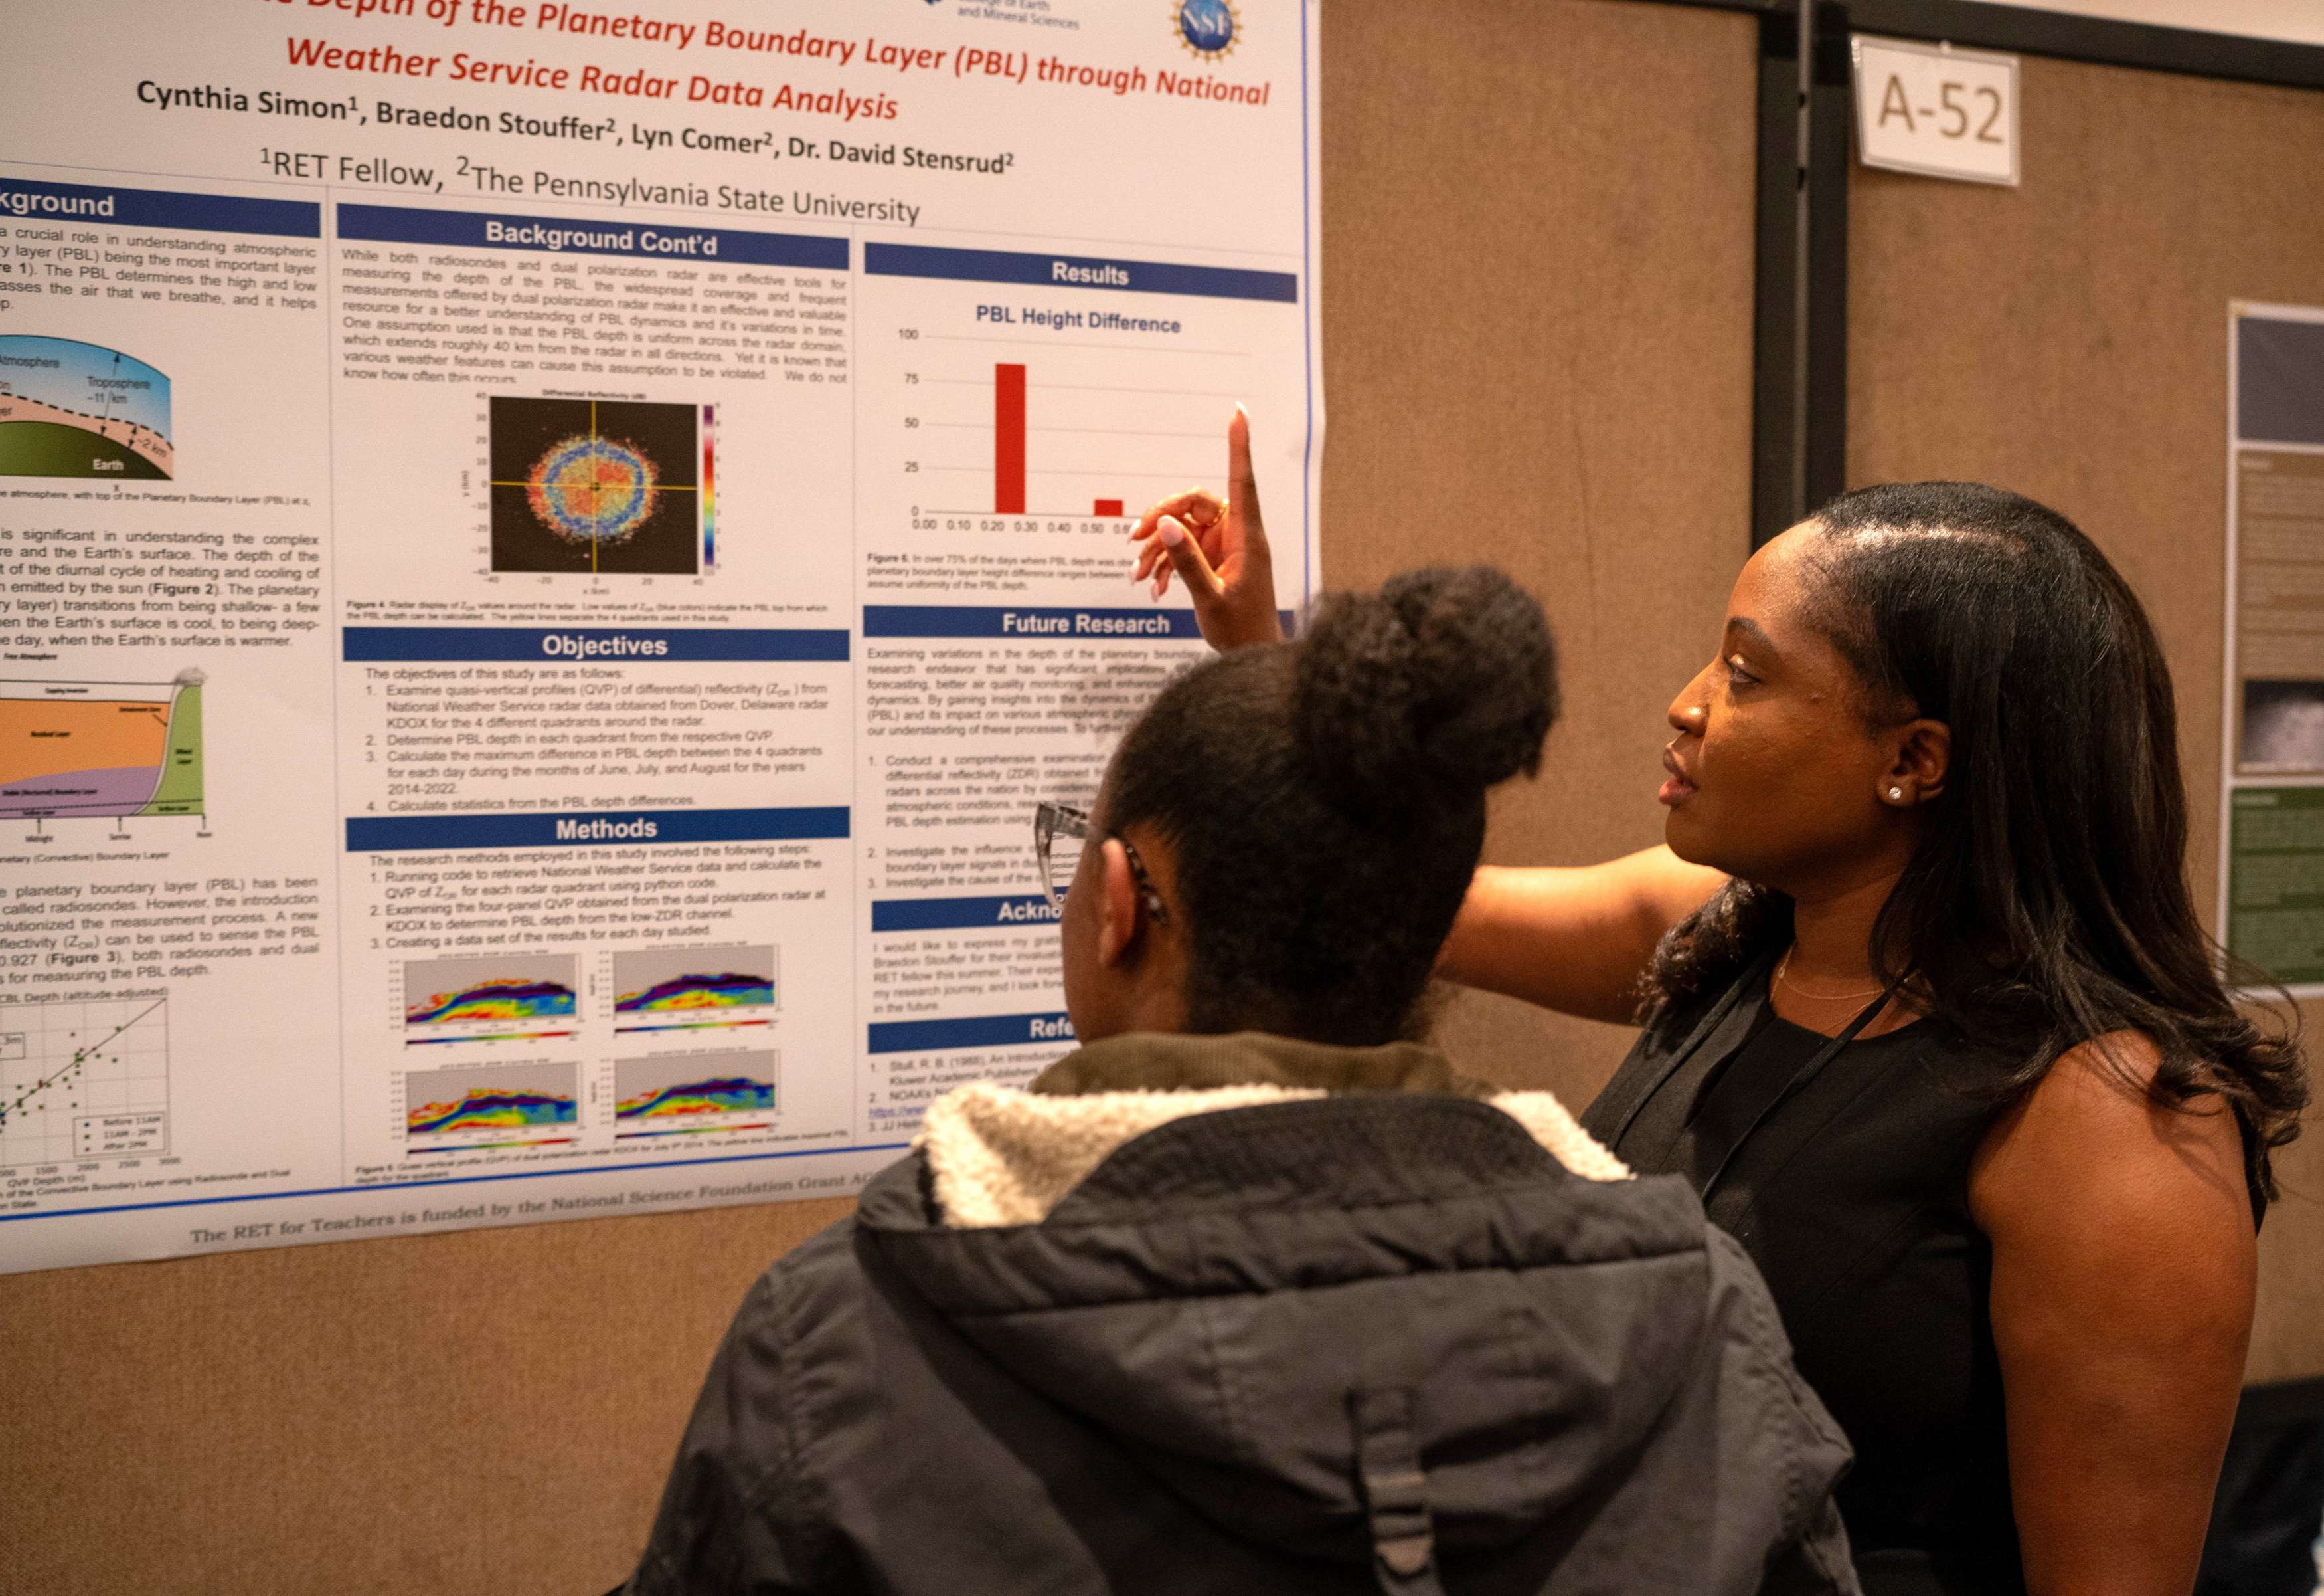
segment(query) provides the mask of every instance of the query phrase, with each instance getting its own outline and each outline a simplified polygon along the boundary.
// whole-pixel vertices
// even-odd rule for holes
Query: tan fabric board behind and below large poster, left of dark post
[[[1492,854],[1659,838],[1662,707],[1748,547],[1755,23],[1332,0],[1325,561],[1497,561],[1566,724]],[[1585,1100],[1627,1035],[1464,1000]],[[0,1596],[590,1596],[627,1573],[744,1287],[844,1203],[0,1280]]]

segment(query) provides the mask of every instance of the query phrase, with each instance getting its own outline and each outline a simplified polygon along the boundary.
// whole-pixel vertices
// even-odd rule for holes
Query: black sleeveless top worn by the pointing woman
[[[1992,1247],[1968,1217],[1992,1066],[1922,1019],[1799,1082],[1831,1038],[1773,1012],[1769,963],[1648,1031],[1583,1126],[1641,1175],[1690,1177],[1766,1275],[1857,1449],[1838,1505],[1866,1591],[2020,1596]]]

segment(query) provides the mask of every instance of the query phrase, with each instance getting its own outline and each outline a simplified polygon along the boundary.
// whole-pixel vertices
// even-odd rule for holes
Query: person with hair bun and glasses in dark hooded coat
[[[1743,1252],[1415,1040],[1555,712],[1538,605],[1427,570],[1043,803],[1078,1052],[753,1287],[630,1589],[1850,1596]]]

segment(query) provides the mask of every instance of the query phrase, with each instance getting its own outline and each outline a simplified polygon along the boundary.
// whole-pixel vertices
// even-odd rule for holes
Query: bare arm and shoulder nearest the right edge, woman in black
[[[2154,1103],[2159,1063],[2143,1035],[2075,1047],[1971,1173],[2036,1591],[2187,1591],[2236,1415],[2259,1275],[2240,1135],[2217,1098]]]

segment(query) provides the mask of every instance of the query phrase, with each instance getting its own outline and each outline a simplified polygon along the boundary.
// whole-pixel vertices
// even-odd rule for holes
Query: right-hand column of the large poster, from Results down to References
[[[858,1005],[885,1135],[1071,1047],[1034,805],[1088,805],[1206,654],[1192,610],[1129,586],[1125,512],[1220,484],[1236,402],[1301,414],[1306,321],[1299,279],[1250,265],[867,240],[862,268]],[[1260,440],[1297,528],[1304,430]],[[1285,579],[1308,570],[1285,537]]]

